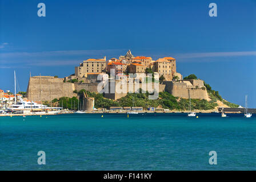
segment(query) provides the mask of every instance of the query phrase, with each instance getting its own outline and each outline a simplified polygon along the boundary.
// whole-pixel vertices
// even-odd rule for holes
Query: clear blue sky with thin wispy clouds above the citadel
[[[46,5],[46,17],[37,5]],[[218,16],[209,16],[209,4]],[[0,0],[0,89],[32,76],[74,73],[82,60],[133,55],[177,59],[226,100],[256,107],[256,1]]]

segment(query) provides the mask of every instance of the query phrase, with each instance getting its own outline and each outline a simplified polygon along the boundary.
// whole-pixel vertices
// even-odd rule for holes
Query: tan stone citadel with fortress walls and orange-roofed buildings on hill
[[[53,76],[30,77],[26,97],[32,101],[51,101],[53,98],[77,97],[75,90],[85,89],[89,92],[98,92],[98,75],[110,73],[114,70],[117,78],[127,76],[128,73],[157,73],[162,78],[159,92],[169,92],[174,97],[198,98],[209,100],[203,80],[183,80],[177,72],[176,60],[173,57],[163,57],[153,60],[146,56],[133,56],[127,51],[119,59],[87,59],[75,67],[75,73],[65,78]],[[109,80],[110,81],[110,80]],[[119,82],[119,79],[115,80]],[[141,88],[141,84],[140,84]],[[128,89],[127,89],[128,90]],[[127,93],[103,93],[105,98],[118,100]]]

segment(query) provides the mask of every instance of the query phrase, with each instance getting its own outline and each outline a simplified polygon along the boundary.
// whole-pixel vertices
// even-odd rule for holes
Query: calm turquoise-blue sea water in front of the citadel
[[[255,114],[101,115],[0,117],[0,169],[256,170]]]

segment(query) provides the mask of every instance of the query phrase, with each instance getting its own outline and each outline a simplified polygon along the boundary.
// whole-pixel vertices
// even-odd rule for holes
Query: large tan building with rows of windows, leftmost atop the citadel
[[[76,77],[87,77],[86,73],[106,72],[106,56],[103,59],[87,59],[75,67]]]

